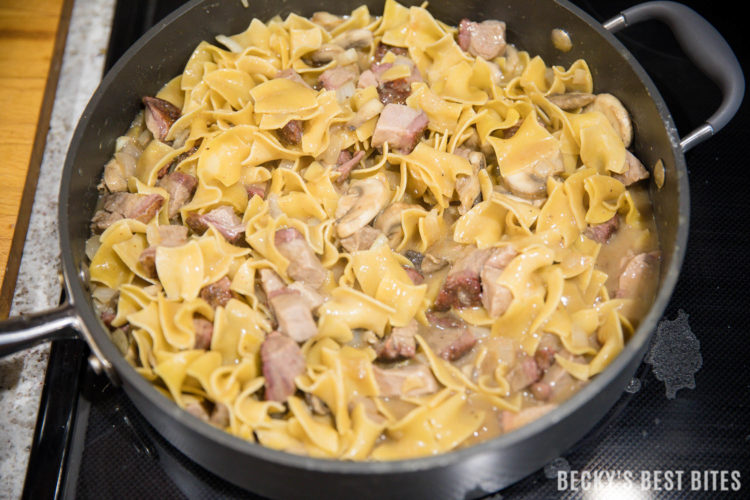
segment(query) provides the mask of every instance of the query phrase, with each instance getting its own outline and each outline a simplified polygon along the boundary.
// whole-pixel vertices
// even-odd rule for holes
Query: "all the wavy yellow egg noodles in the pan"
[[[421,75],[405,104],[423,111],[428,125],[408,153],[372,145],[379,116],[360,111],[378,100],[376,86],[342,96],[278,76],[291,68],[315,82],[339,62],[312,64],[310,54],[350,30],[372,34],[373,43],[358,49],[360,59],[372,58],[380,43],[403,47]],[[553,335],[572,355],[555,354],[554,362],[576,381],[620,353],[639,309],[632,297],[614,297],[617,276],[607,269],[616,266],[597,261],[605,245],[586,230],[619,216],[631,254],[657,242],[648,203],[638,201],[636,186],[618,180],[628,152],[610,117],[566,111],[550,99],[593,92],[586,62],[548,66],[510,45],[488,61],[462,50],[457,33],[426,8],[388,0],[381,17],[362,6],[328,29],[296,14],[253,19],[244,32],[195,48],[183,73],[156,96],[180,116],[164,140],[145,144],[126,189],[168,200],[158,180],[172,165],[197,179],[172,223],[228,206],[241,217],[244,238],[233,244],[210,225],[164,246],[166,203],[148,222],[122,218],[92,237],[94,297],[114,297],[113,338],[139,374],[180,407],[223,405],[228,419],[221,427],[243,439],[314,457],[392,460],[486,439],[503,432],[501,414],[536,405],[528,393],[511,391],[507,363],[488,358],[491,339],[534,356],[542,335]],[[384,55],[392,64],[385,81],[410,74],[402,60]],[[138,120],[125,137],[144,130]],[[292,145],[277,135],[291,120],[303,124]],[[486,168],[457,154],[467,144],[486,153]],[[348,179],[336,168],[345,149],[365,153]],[[541,181],[533,171],[540,160],[554,166]],[[541,183],[541,193],[519,196],[507,189],[510,179]],[[471,183],[475,196],[461,199],[461,183]],[[265,185],[263,196],[249,194],[249,185]],[[341,240],[350,232],[342,229],[339,204],[370,186],[381,189],[381,209],[408,206],[397,213],[394,231],[367,249],[346,251]],[[275,401],[264,396],[260,351],[277,321],[258,279],[270,269],[284,285],[294,281],[292,262],[274,237],[285,228],[296,229],[319,258],[326,278],[317,291],[325,300],[315,311],[317,334],[300,343],[304,370],[296,387]],[[494,282],[510,290],[512,301],[498,316],[482,306],[453,308],[484,339],[461,363],[417,334],[416,357],[404,364],[429,367],[436,389],[412,391],[423,381],[407,377],[400,397],[384,397],[377,372],[387,365],[363,335],[379,341],[415,320],[420,328],[430,324],[448,269],[426,273],[417,284],[405,254],[426,254],[445,241],[512,247],[515,256]],[[150,247],[155,275],[140,260]],[[225,277],[232,298],[212,307],[201,290]],[[195,348],[197,316],[213,328],[205,349]],[[315,411],[311,397],[325,411]]]

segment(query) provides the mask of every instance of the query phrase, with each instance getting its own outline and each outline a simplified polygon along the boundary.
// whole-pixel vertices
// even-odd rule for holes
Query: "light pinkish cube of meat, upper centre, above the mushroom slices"
[[[387,142],[391,149],[409,154],[427,128],[428,121],[424,111],[403,104],[387,104],[375,125],[372,146],[381,147]]]

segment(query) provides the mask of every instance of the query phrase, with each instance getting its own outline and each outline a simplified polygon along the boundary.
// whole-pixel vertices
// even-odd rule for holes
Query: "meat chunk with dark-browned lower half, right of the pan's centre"
[[[482,305],[482,283],[480,272],[493,249],[474,249],[465,252],[456,260],[448,272],[440,292],[435,298],[434,308],[445,311],[451,307],[476,307]],[[424,269],[425,262],[422,262]]]

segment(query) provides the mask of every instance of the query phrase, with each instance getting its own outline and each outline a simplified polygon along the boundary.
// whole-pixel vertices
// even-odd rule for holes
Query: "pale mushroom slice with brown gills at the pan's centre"
[[[351,236],[369,224],[390,199],[388,181],[383,175],[353,181],[336,207],[336,233],[339,238]]]

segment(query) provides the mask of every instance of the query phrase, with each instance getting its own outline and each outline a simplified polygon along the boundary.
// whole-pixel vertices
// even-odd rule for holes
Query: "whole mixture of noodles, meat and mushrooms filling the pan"
[[[658,281],[648,172],[585,61],[505,34],[389,0],[201,43],[91,221],[135,369],[232,434],[351,460],[511,432],[601,372]]]

